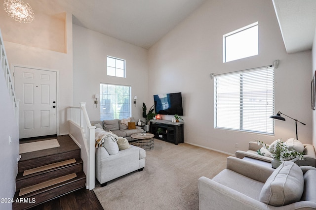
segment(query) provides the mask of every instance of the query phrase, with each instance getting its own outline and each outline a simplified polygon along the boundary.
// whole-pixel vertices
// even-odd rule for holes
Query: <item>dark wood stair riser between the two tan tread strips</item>
[[[55,179],[71,173],[79,173],[82,171],[83,162],[81,158],[75,159],[75,163],[51,168],[34,174],[23,176],[24,172],[19,172],[16,177],[16,190],[23,187],[32,186],[34,184]]]

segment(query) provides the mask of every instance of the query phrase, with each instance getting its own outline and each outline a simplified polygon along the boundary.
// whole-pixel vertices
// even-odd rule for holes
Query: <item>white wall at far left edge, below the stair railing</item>
[[[0,66],[0,198],[13,198],[18,173],[19,128]],[[12,142],[9,144],[9,136]],[[12,209],[11,203],[0,203],[1,210]]]

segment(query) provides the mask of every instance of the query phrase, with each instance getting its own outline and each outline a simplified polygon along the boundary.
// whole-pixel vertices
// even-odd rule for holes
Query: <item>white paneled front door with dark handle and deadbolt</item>
[[[20,139],[57,134],[57,72],[14,66]]]

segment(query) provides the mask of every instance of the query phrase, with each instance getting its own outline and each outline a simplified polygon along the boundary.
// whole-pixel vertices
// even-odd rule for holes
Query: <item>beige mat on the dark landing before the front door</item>
[[[20,154],[60,147],[57,139],[20,144]]]

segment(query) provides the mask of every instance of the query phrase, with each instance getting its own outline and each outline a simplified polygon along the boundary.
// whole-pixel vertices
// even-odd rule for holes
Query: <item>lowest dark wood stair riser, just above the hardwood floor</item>
[[[17,190],[14,196],[13,210],[24,210],[39,205],[43,202],[60,197],[85,187],[86,177],[83,172],[76,173],[77,177],[49,187],[19,196]]]

